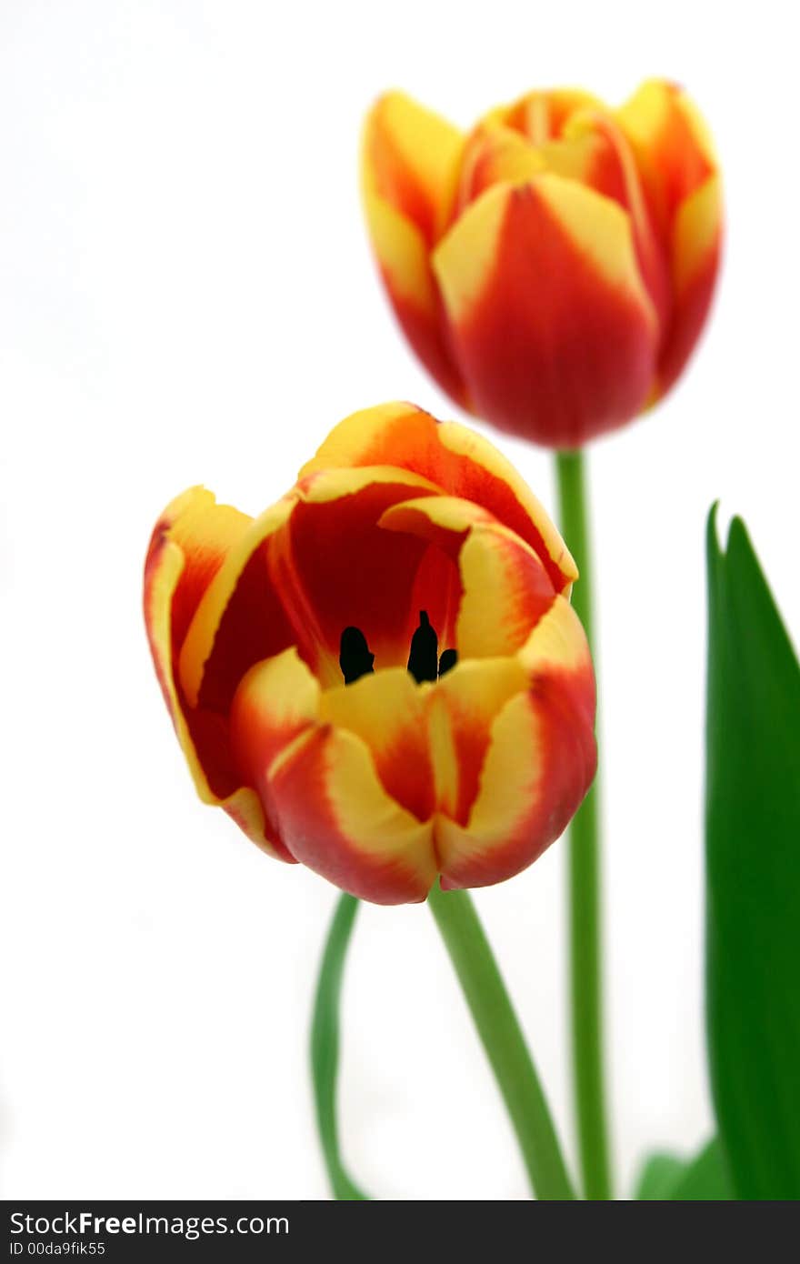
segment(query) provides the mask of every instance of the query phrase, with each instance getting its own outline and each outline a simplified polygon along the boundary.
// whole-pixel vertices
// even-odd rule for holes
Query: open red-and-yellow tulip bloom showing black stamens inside
[[[144,611],[201,798],[378,904],[517,873],[595,770],[575,579],[499,453],[409,404],[342,421],[255,520],[183,493]]]

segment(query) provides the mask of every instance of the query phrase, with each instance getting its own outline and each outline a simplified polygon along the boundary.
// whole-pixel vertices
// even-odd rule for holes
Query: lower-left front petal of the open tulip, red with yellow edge
[[[273,762],[269,794],[294,860],[374,904],[426,899],[436,877],[432,824],[387,794],[355,733],[301,733]]]

